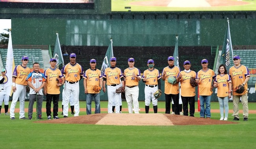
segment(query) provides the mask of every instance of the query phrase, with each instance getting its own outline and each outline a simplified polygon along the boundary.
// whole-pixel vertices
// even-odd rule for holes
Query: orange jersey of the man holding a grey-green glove
[[[178,94],[179,91],[179,84],[170,84],[168,83],[168,78],[170,76],[174,76],[174,78],[177,78],[178,74],[180,73],[180,67],[174,66],[173,68],[170,68],[169,66],[163,68],[163,72],[166,72],[165,74],[165,94]],[[163,74],[163,73],[162,73]]]

